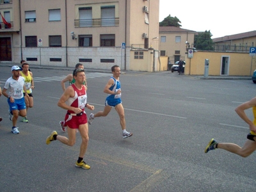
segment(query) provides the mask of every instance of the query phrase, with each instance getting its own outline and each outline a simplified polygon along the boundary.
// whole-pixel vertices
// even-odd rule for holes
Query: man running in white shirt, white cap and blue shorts
[[[7,93],[9,90],[9,93]],[[12,120],[12,133],[19,134],[19,127],[16,127],[19,115],[26,116],[26,103],[24,100],[23,91],[28,97],[28,93],[25,86],[24,77],[20,76],[20,67],[17,65],[12,67],[12,77],[7,79],[3,88],[3,95],[8,98],[9,118]]]

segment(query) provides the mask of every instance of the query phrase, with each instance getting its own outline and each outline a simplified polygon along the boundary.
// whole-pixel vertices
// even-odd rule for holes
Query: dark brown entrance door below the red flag
[[[12,44],[10,37],[0,37],[0,61],[12,61]]]

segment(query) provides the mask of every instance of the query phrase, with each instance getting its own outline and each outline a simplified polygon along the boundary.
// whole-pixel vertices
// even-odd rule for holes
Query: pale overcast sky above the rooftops
[[[159,0],[159,22],[170,14],[182,29],[211,31],[211,38],[256,30],[256,3],[253,0]]]

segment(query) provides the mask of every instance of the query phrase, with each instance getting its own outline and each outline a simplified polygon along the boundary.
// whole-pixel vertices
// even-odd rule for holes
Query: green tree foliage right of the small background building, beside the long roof
[[[206,30],[204,33],[198,33],[198,35],[195,35],[194,47],[196,47],[197,50],[213,51],[214,43],[212,42],[211,36],[210,30]]]

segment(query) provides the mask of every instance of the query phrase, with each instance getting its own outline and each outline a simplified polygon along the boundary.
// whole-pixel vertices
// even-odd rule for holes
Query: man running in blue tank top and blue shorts
[[[125,139],[132,136],[132,133],[126,131],[126,128],[125,128],[126,125],[125,125],[124,107],[122,105],[122,100],[121,100],[121,84],[119,81],[121,70],[118,65],[114,65],[113,67],[111,67],[111,71],[113,73],[113,77],[109,79],[108,83],[104,88],[104,93],[108,94],[108,97],[106,98],[106,102],[105,102],[104,111],[99,111],[95,115],[91,113],[88,123],[92,124],[92,120],[95,117],[107,116],[108,113],[111,111],[111,109],[115,108],[116,112],[120,117],[120,124],[123,131],[123,138]]]

